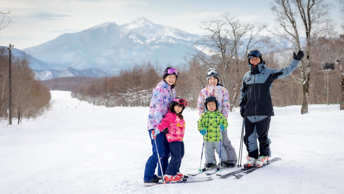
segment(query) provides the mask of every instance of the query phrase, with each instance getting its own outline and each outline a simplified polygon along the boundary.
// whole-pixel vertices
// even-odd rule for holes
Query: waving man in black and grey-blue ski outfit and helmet
[[[258,49],[247,52],[247,66],[250,71],[245,74],[240,88],[240,114],[245,119],[244,143],[248,152],[244,167],[262,166],[271,157],[268,131],[271,116],[274,116],[270,94],[272,82],[289,76],[297,68],[303,56],[301,50],[298,54],[294,52],[290,65],[284,69],[273,69],[265,66]]]

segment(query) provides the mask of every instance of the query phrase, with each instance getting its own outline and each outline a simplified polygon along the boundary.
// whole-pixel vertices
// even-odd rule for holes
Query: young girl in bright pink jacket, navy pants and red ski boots
[[[171,160],[166,169],[165,181],[180,181],[183,174],[179,171],[182,158],[184,156],[184,130],[185,121],[182,112],[187,106],[187,101],[182,97],[175,97],[172,100],[170,109],[161,120],[161,123],[152,132],[152,139],[160,132],[166,133],[169,142]],[[167,129],[166,129],[167,128]]]

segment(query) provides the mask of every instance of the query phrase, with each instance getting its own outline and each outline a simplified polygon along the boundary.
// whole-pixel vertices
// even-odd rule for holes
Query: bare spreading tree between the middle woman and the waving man
[[[262,41],[259,33],[267,25],[256,21],[240,22],[236,16],[230,16],[229,13],[222,14],[222,17],[220,20],[201,22],[199,27],[206,31],[206,35],[196,42],[196,51],[191,56],[200,60],[201,69],[213,67],[220,71],[221,83],[233,93],[230,106],[235,107],[233,105],[238,101],[243,74],[239,64],[245,63],[248,48]],[[246,52],[242,49],[240,52],[239,48],[243,46],[244,38],[248,40],[247,45],[244,45]]]

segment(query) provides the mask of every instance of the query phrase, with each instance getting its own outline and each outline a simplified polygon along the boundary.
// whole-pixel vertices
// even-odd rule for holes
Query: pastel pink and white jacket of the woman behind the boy
[[[217,86],[208,85],[201,90],[200,96],[197,99],[198,115],[202,115],[205,112],[204,100],[207,96],[214,95],[218,101],[218,111],[228,118],[229,112],[229,97],[228,90],[221,84]]]

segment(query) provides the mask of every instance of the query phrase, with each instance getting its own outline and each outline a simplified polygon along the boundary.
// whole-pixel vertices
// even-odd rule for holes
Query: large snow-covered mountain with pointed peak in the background
[[[157,25],[144,17],[123,25],[106,22],[77,33],[66,33],[24,49],[61,70],[100,69],[116,74],[144,60],[178,64],[201,36]]]

